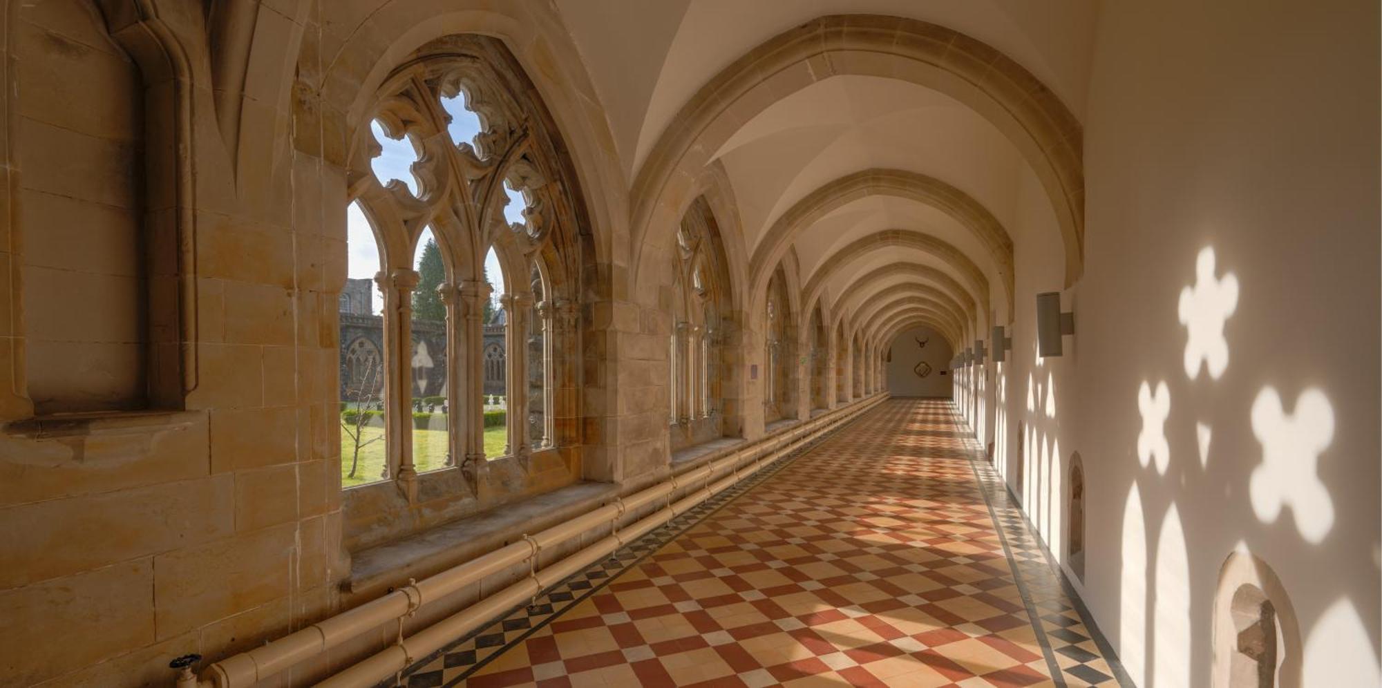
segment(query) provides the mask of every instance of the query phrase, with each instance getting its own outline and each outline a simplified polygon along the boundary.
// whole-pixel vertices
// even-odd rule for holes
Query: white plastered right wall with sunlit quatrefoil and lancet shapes
[[[1378,6],[1269,4],[1117,3],[1099,25],[1060,363],[1078,408],[1056,383],[1079,427],[1057,435],[1086,470],[1082,594],[1139,685],[1209,685],[1236,547],[1291,598],[1302,685],[1378,685]],[[1186,314],[1209,323],[1194,344]]]

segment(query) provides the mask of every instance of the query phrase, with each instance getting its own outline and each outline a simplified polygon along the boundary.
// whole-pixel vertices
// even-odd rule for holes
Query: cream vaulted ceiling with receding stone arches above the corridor
[[[655,228],[690,202],[684,191],[695,191],[677,187],[679,178],[719,166],[738,213],[738,222],[724,225],[741,228],[724,236],[726,250],[752,257],[750,297],[793,253],[804,307],[820,298],[857,308],[886,290],[918,305],[943,298],[944,312],[959,308],[967,326],[978,329],[1012,318],[1014,251],[1034,243],[1063,246],[1052,254],[1066,257],[1067,283],[1078,275],[1078,120],[1097,0],[557,6],[633,187],[634,251],[640,242],[656,240]],[[884,43],[912,40],[919,47],[897,48],[902,59],[887,65],[875,65],[876,55],[847,40],[820,50],[792,47],[793,32],[806,35],[797,43],[828,44],[835,40],[831,32],[857,23],[831,17],[842,14],[912,19]],[[808,22],[822,26],[820,39],[802,26]],[[871,30],[894,29],[883,21]],[[949,54],[931,59],[941,76],[922,73],[934,70],[926,64],[927,39],[951,46]],[[804,50],[807,77],[792,80],[797,65],[791,59],[759,57],[788,50]],[[991,64],[945,66],[960,58]],[[902,73],[915,65],[916,76]],[[994,95],[1012,86],[994,73],[1017,82],[1017,95]],[[970,83],[952,87],[956,79]],[[988,97],[969,95],[974,86]],[[1024,98],[1036,105],[1016,102]],[[1024,111],[1028,105],[1039,113]],[[1043,127],[1052,135],[1036,131]],[[873,181],[861,182],[871,171]],[[1049,202],[1021,202],[1034,192]],[[632,261],[638,264],[637,254]]]

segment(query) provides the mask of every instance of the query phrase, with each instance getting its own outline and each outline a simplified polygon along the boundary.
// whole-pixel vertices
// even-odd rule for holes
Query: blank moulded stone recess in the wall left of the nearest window
[[[22,108],[7,115],[4,160],[23,173],[11,178],[23,213],[6,242],[15,384],[0,390],[0,420],[181,409],[198,354],[187,36],[158,12],[90,0],[15,3],[7,26],[25,37],[10,47]],[[70,250],[90,242],[104,250]]]

